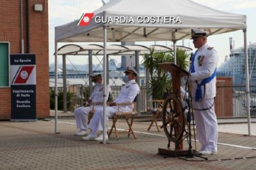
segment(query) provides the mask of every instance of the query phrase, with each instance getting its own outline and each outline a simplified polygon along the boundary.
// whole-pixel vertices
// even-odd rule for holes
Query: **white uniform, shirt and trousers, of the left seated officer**
[[[111,93],[111,89],[109,85],[107,85],[106,88],[106,97],[108,99],[109,93]],[[89,99],[92,100],[92,103],[97,103],[97,102],[103,102],[103,84],[96,85],[91,96]],[[102,105],[95,105],[94,110],[102,108]],[[76,125],[77,125],[77,130],[78,131],[86,131],[88,128],[88,115],[90,111],[92,110],[92,106],[84,107],[81,106],[79,108],[76,108],[74,111],[74,115],[76,118]]]

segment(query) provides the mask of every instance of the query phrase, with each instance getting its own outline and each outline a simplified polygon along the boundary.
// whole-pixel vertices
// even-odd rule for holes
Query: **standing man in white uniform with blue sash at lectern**
[[[207,33],[192,29],[192,39],[196,50],[190,67],[190,87],[196,131],[202,147],[202,155],[217,153],[218,123],[214,111],[216,96],[216,68],[218,54],[207,43]]]

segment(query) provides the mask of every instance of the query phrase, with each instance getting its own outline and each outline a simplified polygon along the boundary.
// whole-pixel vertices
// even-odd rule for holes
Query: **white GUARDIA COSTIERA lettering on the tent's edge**
[[[151,16],[142,17],[139,16],[135,20],[133,17],[114,16],[114,17],[95,17],[97,24],[182,24],[180,17],[174,16]]]

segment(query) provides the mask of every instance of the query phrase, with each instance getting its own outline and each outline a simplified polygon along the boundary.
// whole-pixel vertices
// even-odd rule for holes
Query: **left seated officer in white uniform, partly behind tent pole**
[[[103,84],[102,84],[102,76],[101,74],[91,74],[90,78],[92,78],[92,82],[95,83],[95,88],[86,102],[86,106],[81,106],[76,108],[74,111],[74,115],[76,118],[76,126],[77,132],[75,135],[83,136],[88,135],[87,127],[88,127],[88,115],[90,111],[92,111],[92,103],[100,103],[103,102]],[[107,85],[106,97],[108,98],[109,92],[111,89],[109,85]],[[102,108],[102,104],[95,105],[95,109]]]

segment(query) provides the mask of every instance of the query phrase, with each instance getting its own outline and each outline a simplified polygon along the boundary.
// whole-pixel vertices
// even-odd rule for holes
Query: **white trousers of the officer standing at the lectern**
[[[204,99],[202,102],[192,101],[195,115],[196,134],[201,143],[201,150],[217,152],[218,122],[214,111],[214,98]],[[206,109],[208,110],[195,110]]]

